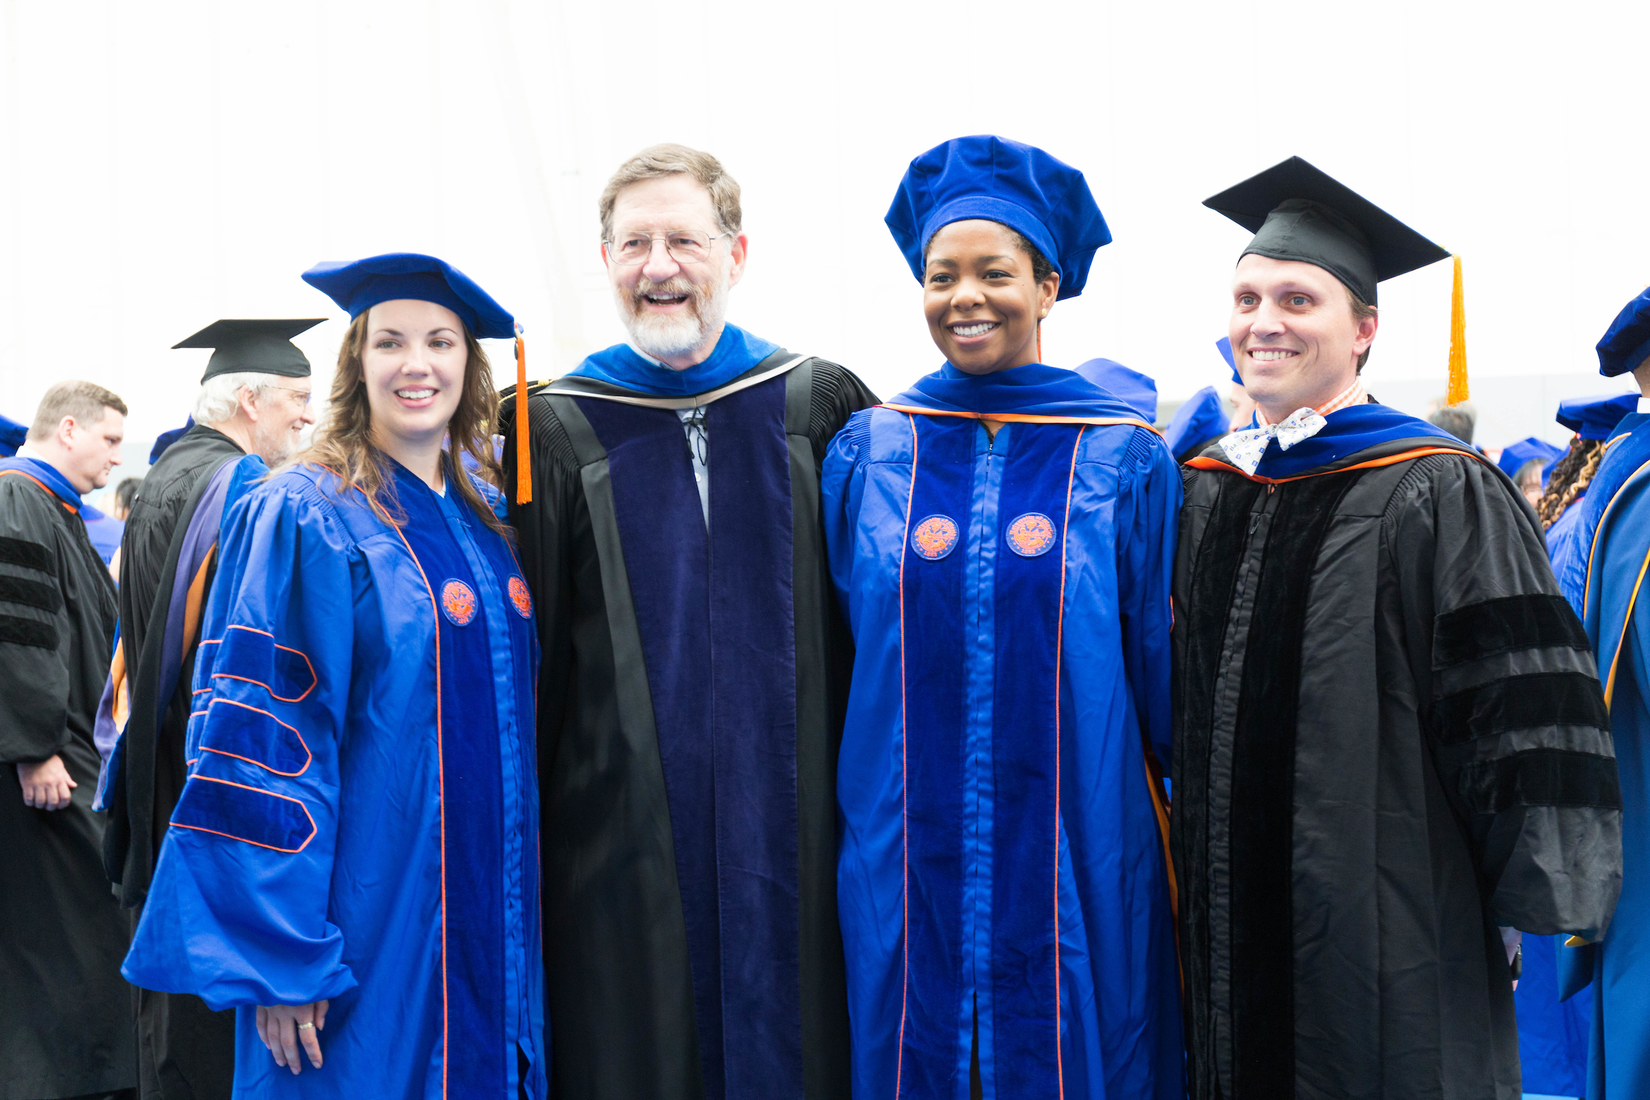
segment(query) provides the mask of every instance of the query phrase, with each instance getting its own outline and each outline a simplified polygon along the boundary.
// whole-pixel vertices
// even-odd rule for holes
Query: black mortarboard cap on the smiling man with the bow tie
[[[1254,233],[1239,259],[1256,252],[1317,264],[1370,305],[1378,282],[1449,257],[1447,249],[1300,157],[1203,204]]]

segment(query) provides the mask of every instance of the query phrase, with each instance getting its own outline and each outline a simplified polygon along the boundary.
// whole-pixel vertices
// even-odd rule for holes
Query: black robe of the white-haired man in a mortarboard
[[[172,810],[183,792],[183,732],[198,638],[186,638],[183,661],[162,683],[162,650],[177,600],[177,574],[185,536],[213,477],[246,452],[223,432],[193,425],[148,470],[132,501],[120,539],[120,645],[125,653],[130,707],[120,770],[111,785],[104,861],[117,882],[132,927],[160,858]],[[218,500],[221,510],[221,496]],[[216,529],[218,516],[206,516]],[[200,590],[211,589],[216,556],[200,567]],[[203,607],[196,602],[196,612]],[[190,994],[134,988],[137,1014],[139,1093],[165,1100],[228,1097],[234,1080],[234,1013],[214,1013]]]

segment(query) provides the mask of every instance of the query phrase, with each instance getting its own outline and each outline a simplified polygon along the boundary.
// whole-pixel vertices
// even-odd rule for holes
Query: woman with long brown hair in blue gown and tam
[[[543,1097],[533,609],[464,468],[513,322],[427,256],[305,279],[353,317],[332,407],[224,516],[124,973],[238,1009],[238,1097]]]

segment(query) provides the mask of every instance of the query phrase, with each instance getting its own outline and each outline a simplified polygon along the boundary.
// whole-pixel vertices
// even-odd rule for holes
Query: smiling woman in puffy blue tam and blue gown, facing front
[[[1180,477],[1038,363],[1110,239],[997,137],[917,157],[888,224],[945,364],[825,462],[853,630],[838,907],[863,1097],[1183,1097],[1158,764]]]

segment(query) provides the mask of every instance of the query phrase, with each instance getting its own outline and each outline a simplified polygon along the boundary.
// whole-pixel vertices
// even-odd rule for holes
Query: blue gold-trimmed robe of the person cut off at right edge
[[[1559,571],[1599,661],[1622,782],[1622,896],[1597,945],[1564,947],[1561,994],[1592,983],[1589,1100],[1650,1095],[1650,414],[1630,414],[1587,487]]]

